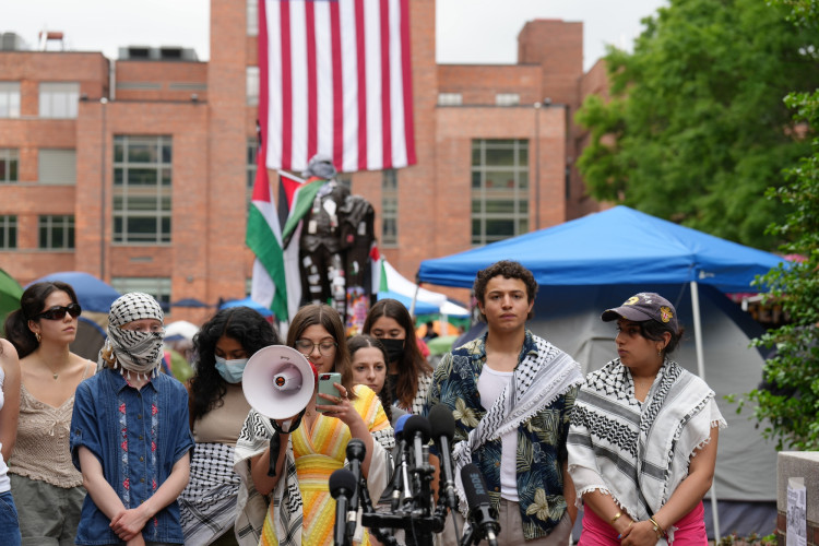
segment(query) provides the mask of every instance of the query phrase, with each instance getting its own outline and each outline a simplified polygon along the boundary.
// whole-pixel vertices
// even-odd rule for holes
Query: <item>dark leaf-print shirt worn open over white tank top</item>
[[[436,404],[452,408],[455,418],[453,446],[468,438],[470,431],[486,415],[477,382],[486,364],[486,335],[444,355],[435,370],[424,415]],[[537,346],[529,330],[518,363]],[[529,541],[546,536],[566,512],[563,463],[566,437],[578,387],[572,387],[548,407],[518,427],[518,496],[523,520],[523,536]],[[500,503],[501,439],[484,443],[472,453],[480,468],[492,506]]]

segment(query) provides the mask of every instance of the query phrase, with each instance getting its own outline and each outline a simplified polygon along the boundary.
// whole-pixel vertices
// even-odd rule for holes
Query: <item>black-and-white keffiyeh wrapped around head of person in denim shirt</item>
[[[162,363],[165,330],[158,332],[136,332],[122,327],[141,319],[155,319],[164,322],[165,314],[159,304],[147,294],[132,292],[117,298],[108,312],[108,339],[99,351],[98,363],[138,375],[156,376]]]

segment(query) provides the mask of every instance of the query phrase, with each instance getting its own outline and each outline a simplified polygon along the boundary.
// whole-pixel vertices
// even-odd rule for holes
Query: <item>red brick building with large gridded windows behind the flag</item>
[[[111,61],[4,40],[0,268],[21,283],[86,271],[165,301],[244,297],[257,12],[257,0],[211,0],[207,62],[180,48],[122,47]],[[399,271],[412,278],[424,259],[596,210],[573,170],[571,117],[600,86],[583,74],[582,23],[526,23],[510,66],[436,64],[435,0],[411,2],[411,34],[417,164],[345,176]]]

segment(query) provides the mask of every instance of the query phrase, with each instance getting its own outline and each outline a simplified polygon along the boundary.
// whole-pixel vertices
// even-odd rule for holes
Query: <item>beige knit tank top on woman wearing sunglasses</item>
[[[83,379],[88,369],[94,369],[93,363],[85,367]],[[57,487],[82,485],[82,474],[71,463],[69,451],[73,411],[73,394],[54,407],[35,399],[21,384],[17,441],[9,460],[9,472]]]

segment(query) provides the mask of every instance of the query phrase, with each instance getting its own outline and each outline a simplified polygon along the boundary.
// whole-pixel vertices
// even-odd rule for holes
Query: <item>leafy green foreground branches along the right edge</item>
[[[790,21],[798,27],[819,27],[819,5],[815,0],[779,0],[791,8]],[[814,45],[805,50],[816,56]],[[751,391],[755,416],[765,423],[765,435],[778,446],[803,450],[819,449],[819,91],[796,92],[785,98],[795,110],[811,151],[786,171],[786,183],[770,188],[768,195],[791,206],[791,213],[771,225],[773,235],[787,239],[784,253],[806,258],[791,268],[772,270],[761,283],[771,287],[773,298],[791,318],[791,323],[770,330],[760,345],[776,347],[767,360],[763,375],[768,388]]]

